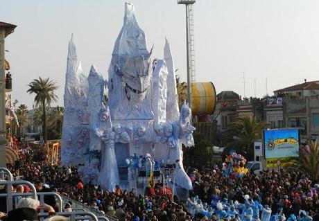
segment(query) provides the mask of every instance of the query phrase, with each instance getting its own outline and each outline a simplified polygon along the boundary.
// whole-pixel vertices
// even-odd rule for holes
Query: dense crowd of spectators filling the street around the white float
[[[33,182],[37,191],[55,191],[118,220],[304,221],[317,218],[319,213],[319,186],[299,171],[270,170],[232,179],[223,175],[218,166],[214,170],[187,168],[193,191],[183,202],[177,196],[160,194],[160,182],[147,195],[139,195],[134,189],[122,190],[120,186],[110,192],[101,186],[83,184],[77,168],[46,164],[41,145],[18,146],[21,165],[9,166],[14,175]],[[56,210],[54,197],[47,198],[46,204]],[[243,215],[250,212],[250,207],[251,217]],[[263,217],[264,209],[273,215]],[[305,212],[301,218],[300,211]]]

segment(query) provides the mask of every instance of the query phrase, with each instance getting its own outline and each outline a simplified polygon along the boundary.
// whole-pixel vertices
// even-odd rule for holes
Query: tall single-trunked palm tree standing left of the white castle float
[[[50,78],[34,79],[30,84],[28,84],[28,93],[35,94],[35,105],[37,107],[42,107],[42,131],[44,143],[46,143],[46,107],[50,107],[52,102],[58,100],[58,96],[54,94],[54,91],[58,89],[57,83]]]

